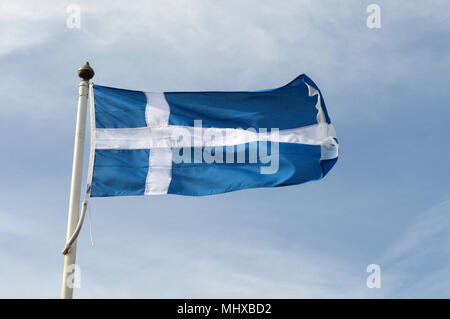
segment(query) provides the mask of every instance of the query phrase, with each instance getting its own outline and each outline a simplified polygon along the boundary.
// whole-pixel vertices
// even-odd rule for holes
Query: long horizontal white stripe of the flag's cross
[[[243,129],[203,128],[204,136],[221,136],[219,139],[202,141],[199,146],[232,146],[256,141],[323,145],[336,137],[332,124],[326,125],[325,137],[319,138],[319,124],[280,130],[278,136]],[[180,138],[186,136],[186,138]],[[97,129],[96,149],[155,149],[191,147],[194,145],[194,127],[170,125],[165,127],[141,127],[119,129]],[[196,145],[197,146],[197,145]]]

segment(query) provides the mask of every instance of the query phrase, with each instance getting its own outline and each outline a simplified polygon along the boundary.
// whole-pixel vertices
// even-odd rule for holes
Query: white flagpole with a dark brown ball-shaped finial
[[[89,66],[89,62],[78,69],[80,77],[78,95],[78,114],[75,131],[75,145],[73,152],[72,182],[70,186],[69,216],[67,221],[66,241],[70,239],[78,224],[80,214],[81,178],[83,174],[83,154],[84,140],[86,135],[86,113],[87,99],[89,92],[89,80],[94,77],[94,70]],[[64,272],[61,288],[62,299],[72,299],[73,281],[75,272],[77,243],[74,242],[70,250],[64,257]]]

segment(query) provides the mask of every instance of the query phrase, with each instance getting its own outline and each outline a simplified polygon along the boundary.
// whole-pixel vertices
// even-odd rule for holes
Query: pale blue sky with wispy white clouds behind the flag
[[[305,73],[340,154],[302,185],[92,199],[75,298],[450,297],[449,38],[447,0],[2,1],[0,297],[59,298],[85,61],[93,82],[143,91]]]

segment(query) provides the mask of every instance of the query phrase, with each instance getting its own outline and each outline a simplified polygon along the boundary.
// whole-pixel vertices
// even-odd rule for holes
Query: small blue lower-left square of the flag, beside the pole
[[[91,197],[143,195],[149,150],[96,150]]]

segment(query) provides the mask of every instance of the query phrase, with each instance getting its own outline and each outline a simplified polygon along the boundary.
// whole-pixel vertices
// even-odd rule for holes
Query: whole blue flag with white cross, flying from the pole
[[[338,142],[306,75],[271,90],[91,88],[91,197],[211,195],[323,178]]]

